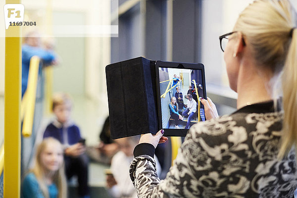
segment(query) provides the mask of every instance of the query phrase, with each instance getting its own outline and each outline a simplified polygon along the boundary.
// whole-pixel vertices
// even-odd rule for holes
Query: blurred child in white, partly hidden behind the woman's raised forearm
[[[132,136],[115,140],[120,148],[111,160],[111,173],[106,174],[106,186],[112,198],[137,198],[133,183],[129,176],[130,162],[134,158],[133,150],[138,145],[140,136]],[[157,172],[161,167],[155,158]]]

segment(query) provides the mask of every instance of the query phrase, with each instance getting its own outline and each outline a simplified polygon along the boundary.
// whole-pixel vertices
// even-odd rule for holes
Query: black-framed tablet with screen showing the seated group
[[[155,62],[158,128],[164,136],[186,136],[189,128],[205,121],[203,64]]]

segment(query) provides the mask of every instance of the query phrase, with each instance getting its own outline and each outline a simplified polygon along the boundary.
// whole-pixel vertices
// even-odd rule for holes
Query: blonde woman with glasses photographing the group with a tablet
[[[237,111],[193,125],[163,181],[151,157],[159,131],[134,149],[139,198],[292,198],[297,188],[297,24],[289,0],[255,0],[220,37]],[[224,41],[225,40],[225,41]],[[226,44],[226,45],[222,45]],[[211,66],[211,65],[209,65]],[[273,93],[281,76],[283,99]]]

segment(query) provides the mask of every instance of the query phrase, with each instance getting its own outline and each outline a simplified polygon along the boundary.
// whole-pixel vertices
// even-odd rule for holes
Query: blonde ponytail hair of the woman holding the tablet
[[[234,31],[242,32],[244,39],[251,45],[256,63],[269,67],[275,74],[282,74],[284,121],[280,158],[293,145],[297,145],[297,31],[293,29],[296,27],[295,14],[289,0],[257,0],[247,6],[234,26]]]

